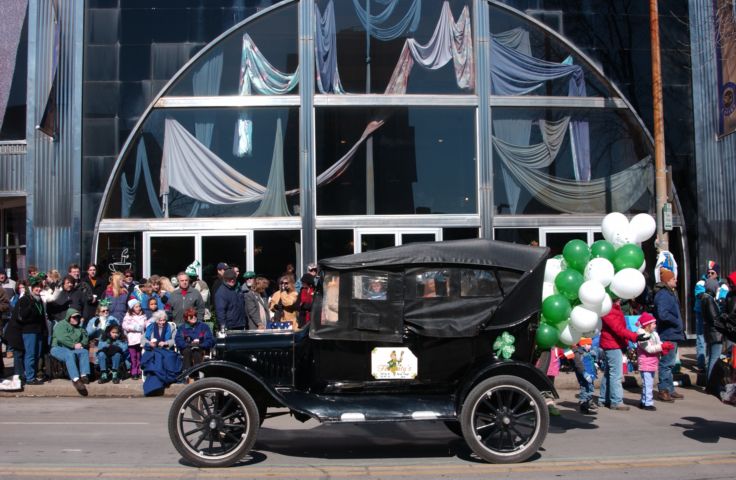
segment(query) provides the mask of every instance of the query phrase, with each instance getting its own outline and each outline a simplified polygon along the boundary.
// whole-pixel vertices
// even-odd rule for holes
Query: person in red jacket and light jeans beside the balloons
[[[598,405],[609,407],[611,410],[628,410],[629,407],[624,405],[624,388],[621,384],[624,364],[622,351],[626,349],[628,342],[646,340],[649,336],[637,335],[626,328],[624,312],[621,311],[621,300],[613,303],[613,308],[608,315],[602,317],[602,320],[600,349],[603,351],[601,358],[603,378]]]

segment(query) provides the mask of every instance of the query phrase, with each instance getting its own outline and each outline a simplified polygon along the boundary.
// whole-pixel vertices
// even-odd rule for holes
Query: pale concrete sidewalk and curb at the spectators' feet
[[[698,373],[695,371],[695,346],[685,345],[680,347],[680,360],[682,366],[680,373],[675,375],[675,380],[681,382],[683,387],[691,387],[695,385],[704,385],[703,378],[698,379]],[[12,371],[13,360],[5,358],[6,372]],[[600,372],[599,372],[600,374]],[[701,375],[702,377],[702,375]],[[624,375],[624,386],[636,387],[641,382],[638,373],[629,373]],[[165,397],[176,396],[186,385],[174,384],[164,391]],[[596,388],[598,381],[596,381]],[[555,379],[555,388],[557,390],[577,390],[579,388],[575,374],[572,372],[560,372]],[[87,385],[90,397],[142,397],[143,381],[141,380],[123,380],[118,385],[106,383],[100,385],[97,382],[91,382]],[[72,382],[66,379],[55,379],[43,385],[26,386],[22,392],[0,392],[2,397],[79,397],[79,393],[74,389]]]

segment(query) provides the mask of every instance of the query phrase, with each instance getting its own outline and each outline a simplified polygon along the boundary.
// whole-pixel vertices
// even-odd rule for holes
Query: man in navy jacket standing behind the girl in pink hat
[[[685,340],[680,302],[677,299],[677,277],[675,274],[662,268],[659,272],[660,282],[654,285],[654,310],[657,318],[657,333],[663,342],[672,342],[675,348],[667,355],[659,358],[659,385],[657,385],[657,399],[662,402],[672,402],[683,398],[675,392],[672,370],[677,360],[677,344]]]

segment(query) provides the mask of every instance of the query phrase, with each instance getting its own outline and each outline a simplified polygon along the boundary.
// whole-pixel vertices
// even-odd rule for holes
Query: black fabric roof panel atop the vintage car
[[[353,270],[407,265],[477,265],[530,271],[546,259],[548,249],[495,240],[471,239],[410,243],[365,253],[326,258],[328,270]]]

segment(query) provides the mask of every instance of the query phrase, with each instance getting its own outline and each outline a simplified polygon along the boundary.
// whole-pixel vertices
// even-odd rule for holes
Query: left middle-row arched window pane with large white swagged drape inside
[[[175,120],[178,128],[178,133],[172,135],[173,141],[180,146],[175,165],[179,165],[179,162],[184,165],[169,168],[170,174],[182,169],[188,171],[184,160],[195,161],[193,159],[207,159],[208,170],[214,170],[215,166],[224,162],[225,166],[217,169],[220,177],[229,180],[233,175],[228,168],[239,174],[237,185],[227,189],[231,193],[225,198],[225,204],[205,201],[213,196],[221,197],[222,178],[219,182],[214,175],[186,179],[184,174],[189,189],[179,191],[171,187],[168,198],[170,217],[296,214],[295,208],[299,204],[298,113],[297,108],[182,108],[154,111],[145,122],[138,140],[125,153],[123,166],[113,182],[105,218],[154,218],[161,215],[161,158],[165,142],[164,125],[169,119]],[[236,125],[244,117],[252,122],[252,149],[248,154],[239,155],[234,151],[236,141],[241,138],[236,133]],[[279,125],[280,136],[277,135]],[[141,145],[143,149],[139,148]],[[280,152],[283,154],[280,155]],[[249,182],[255,182],[257,186],[253,187]],[[256,188],[268,193],[256,195]],[[280,194],[274,193],[282,188],[284,191]],[[238,196],[243,201],[231,203],[231,198]],[[157,209],[153,205],[157,205]]]

